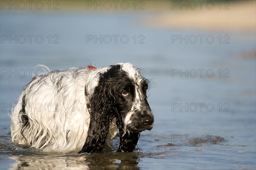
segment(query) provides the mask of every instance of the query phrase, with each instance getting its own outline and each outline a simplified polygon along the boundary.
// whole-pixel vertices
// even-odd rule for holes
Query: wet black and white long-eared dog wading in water
[[[12,111],[12,140],[44,151],[100,152],[119,129],[117,152],[132,152],[154,117],[149,82],[130,63],[35,76]]]

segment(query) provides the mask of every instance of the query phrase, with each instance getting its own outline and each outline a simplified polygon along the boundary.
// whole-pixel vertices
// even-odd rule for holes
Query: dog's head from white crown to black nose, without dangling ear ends
[[[154,122],[147,102],[148,88],[149,81],[137,68],[121,63],[100,75],[95,92],[101,96],[102,107],[115,114],[119,129],[141,132],[151,130]]]

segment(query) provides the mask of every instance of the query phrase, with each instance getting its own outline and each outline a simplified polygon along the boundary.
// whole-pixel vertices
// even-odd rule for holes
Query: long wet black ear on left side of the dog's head
[[[115,85],[117,69],[109,68],[99,74],[99,84],[90,97],[90,125],[84,146],[79,153],[100,152],[105,144],[109,125],[116,116],[118,103],[118,88]],[[88,106],[87,106],[88,107]]]

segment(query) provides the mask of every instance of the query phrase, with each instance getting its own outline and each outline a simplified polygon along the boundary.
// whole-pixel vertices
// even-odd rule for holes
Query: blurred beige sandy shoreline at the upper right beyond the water
[[[217,2],[216,2],[217,3]],[[227,6],[228,5],[228,6]],[[192,5],[191,5],[192,6]],[[191,7],[190,6],[190,7]],[[145,19],[144,24],[157,28],[182,28],[207,31],[256,32],[256,1],[230,1],[230,4],[219,4],[211,10],[202,5],[202,9],[179,5],[159,13],[156,17]],[[192,6],[191,8],[193,8]],[[225,8],[225,9],[224,9]]]

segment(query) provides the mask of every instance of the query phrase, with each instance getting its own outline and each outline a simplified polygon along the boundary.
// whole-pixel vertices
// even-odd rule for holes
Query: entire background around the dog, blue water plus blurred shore
[[[256,1],[1,0],[0,36],[1,169],[256,168]],[[151,80],[154,128],[134,153],[42,158],[11,142],[11,109],[46,71],[36,65],[118,62]]]

